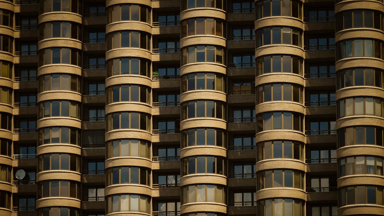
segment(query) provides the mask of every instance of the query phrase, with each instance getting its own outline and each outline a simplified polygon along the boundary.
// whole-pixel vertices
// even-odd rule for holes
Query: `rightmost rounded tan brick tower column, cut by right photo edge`
[[[377,1],[336,1],[338,215],[383,203],[383,17]]]

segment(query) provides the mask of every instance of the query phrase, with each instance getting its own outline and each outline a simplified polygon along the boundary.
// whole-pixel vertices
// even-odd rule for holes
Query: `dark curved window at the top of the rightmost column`
[[[336,31],[348,28],[376,28],[383,30],[382,19],[383,13],[377,10],[344,10],[336,14]]]

